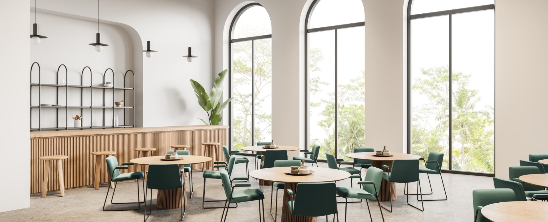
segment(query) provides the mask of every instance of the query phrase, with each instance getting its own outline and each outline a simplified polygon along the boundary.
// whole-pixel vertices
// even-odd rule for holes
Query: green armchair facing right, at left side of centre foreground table
[[[226,201],[225,201],[225,207],[222,209],[222,215],[221,215],[221,221],[224,217],[226,221],[226,218],[229,215],[229,207],[231,203],[242,203],[242,202],[248,202],[248,201],[258,201],[259,202],[259,221],[261,218],[261,202],[262,202],[262,221],[265,221],[265,195],[262,194],[261,189],[254,188],[254,189],[247,189],[247,190],[234,190],[236,187],[249,187],[251,184],[244,183],[244,184],[235,184],[232,186],[232,183],[230,182],[230,176],[229,172],[226,170],[220,170],[219,173],[221,174],[221,180],[222,180],[222,186],[225,190],[226,195]],[[226,214],[225,214],[226,210]]]

